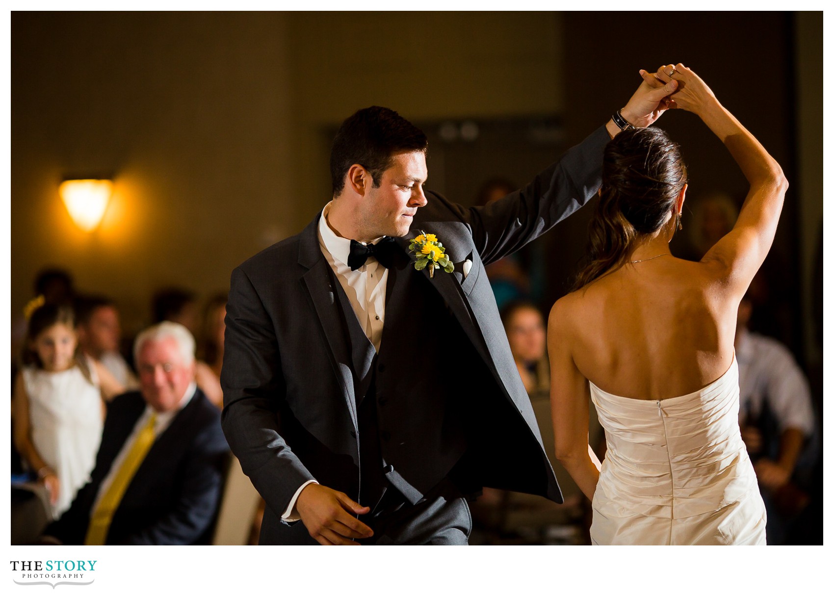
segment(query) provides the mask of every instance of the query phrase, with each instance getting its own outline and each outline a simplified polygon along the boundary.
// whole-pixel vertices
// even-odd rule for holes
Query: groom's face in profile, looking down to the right
[[[369,238],[399,238],[411,228],[414,213],[426,203],[423,184],[429,176],[425,153],[404,151],[394,153],[393,165],[382,174],[379,188],[370,188],[364,195],[360,217]]]

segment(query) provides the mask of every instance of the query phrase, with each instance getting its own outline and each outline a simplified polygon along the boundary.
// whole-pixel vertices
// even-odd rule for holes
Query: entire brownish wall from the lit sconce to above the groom
[[[359,107],[409,119],[553,114],[553,13],[14,13],[13,318],[45,265],[125,326],[153,288],[203,296],[329,198],[324,130]],[[98,231],[58,198],[113,172]]]

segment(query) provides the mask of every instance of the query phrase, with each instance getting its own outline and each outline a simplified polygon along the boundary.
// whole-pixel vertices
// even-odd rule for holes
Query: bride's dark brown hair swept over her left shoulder
[[[684,184],[681,148],[660,128],[625,130],[610,140],[588,229],[588,260],[571,291],[621,267],[637,238],[661,228]]]

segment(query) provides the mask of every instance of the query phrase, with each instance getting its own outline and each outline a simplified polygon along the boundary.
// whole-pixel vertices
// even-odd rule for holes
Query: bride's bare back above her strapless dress
[[[710,263],[626,263],[562,300],[576,367],[607,393],[695,392],[730,367],[736,313]]]

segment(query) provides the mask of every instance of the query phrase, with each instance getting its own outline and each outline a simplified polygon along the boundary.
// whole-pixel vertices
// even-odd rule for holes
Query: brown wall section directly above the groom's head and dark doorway
[[[324,131],[361,107],[420,122],[564,105],[557,13],[293,13],[289,23],[299,172],[312,192],[304,221],[329,199]]]

